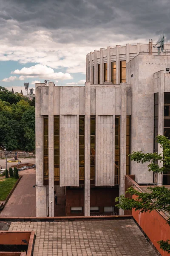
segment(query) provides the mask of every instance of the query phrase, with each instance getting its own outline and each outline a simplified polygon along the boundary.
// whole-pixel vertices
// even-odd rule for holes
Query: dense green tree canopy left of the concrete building
[[[0,145],[7,150],[35,149],[35,101],[1,86]]]

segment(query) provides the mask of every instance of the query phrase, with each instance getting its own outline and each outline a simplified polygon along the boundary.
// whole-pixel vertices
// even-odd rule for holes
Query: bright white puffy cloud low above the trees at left
[[[24,80],[27,78],[39,77],[40,79],[51,79],[56,81],[59,80],[68,80],[73,79],[69,73],[54,72],[54,69],[47,67],[45,65],[37,64],[31,67],[23,67],[21,70],[14,70],[11,74],[21,75],[19,80]]]

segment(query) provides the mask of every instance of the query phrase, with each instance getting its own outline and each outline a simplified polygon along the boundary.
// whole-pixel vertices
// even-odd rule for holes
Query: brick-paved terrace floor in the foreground
[[[133,219],[12,222],[9,231],[36,231],[33,256],[156,256]]]

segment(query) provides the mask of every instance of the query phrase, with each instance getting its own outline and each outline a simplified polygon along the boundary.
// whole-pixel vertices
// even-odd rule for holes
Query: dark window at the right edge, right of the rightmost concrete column
[[[164,93],[164,136],[170,140],[170,93]],[[163,185],[170,185],[170,171],[163,174]]]

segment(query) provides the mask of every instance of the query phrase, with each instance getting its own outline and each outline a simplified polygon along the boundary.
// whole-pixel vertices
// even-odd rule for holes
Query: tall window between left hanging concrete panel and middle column
[[[85,180],[85,116],[79,116],[79,184]]]

